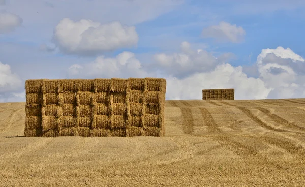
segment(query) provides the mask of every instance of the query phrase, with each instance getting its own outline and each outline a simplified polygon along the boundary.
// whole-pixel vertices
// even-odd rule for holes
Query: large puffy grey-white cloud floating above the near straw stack
[[[102,25],[91,20],[74,22],[64,18],[55,27],[53,39],[65,53],[91,55],[135,46],[138,34],[134,26],[119,22]]]

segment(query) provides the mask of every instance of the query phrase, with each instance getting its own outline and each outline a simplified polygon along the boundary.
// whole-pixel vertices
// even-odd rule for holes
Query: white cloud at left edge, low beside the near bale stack
[[[11,72],[8,64],[0,62],[0,93],[16,91],[21,87],[21,79]]]

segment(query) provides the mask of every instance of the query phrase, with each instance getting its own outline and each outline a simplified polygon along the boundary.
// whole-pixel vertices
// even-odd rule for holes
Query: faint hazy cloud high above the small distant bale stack
[[[217,42],[230,41],[239,43],[243,41],[246,32],[241,26],[237,27],[236,25],[222,21],[218,25],[204,28],[201,35],[204,38],[214,38]]]

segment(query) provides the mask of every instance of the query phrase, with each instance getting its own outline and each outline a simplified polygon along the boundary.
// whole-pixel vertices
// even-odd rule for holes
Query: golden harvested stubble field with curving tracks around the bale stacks
[[[0,103],[0,186],[304,186],[303,103],[169,100],[165,137],[87,138],[24,137],[25,102]]]

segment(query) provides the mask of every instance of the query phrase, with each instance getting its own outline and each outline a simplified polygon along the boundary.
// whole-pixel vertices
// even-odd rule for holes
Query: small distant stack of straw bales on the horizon
[[[234,100],[234,89],[203,89],[203,100]]]

